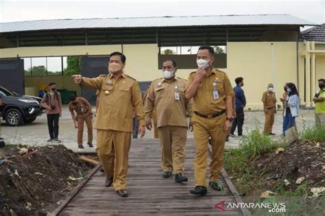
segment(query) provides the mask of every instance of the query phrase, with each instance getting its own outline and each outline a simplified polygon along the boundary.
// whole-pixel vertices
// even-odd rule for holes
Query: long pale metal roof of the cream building
[[[0,32],[53,29],[186,27],[211,25],[315,25],[289,14],[163,16],[108,19],[62,19],[0,23]]]

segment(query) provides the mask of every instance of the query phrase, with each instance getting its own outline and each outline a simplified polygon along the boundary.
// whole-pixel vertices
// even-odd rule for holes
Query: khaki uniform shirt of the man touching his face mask
[[[190,73],[186,88],[192,84],[195,75],[196,71]],[[213,97],[214,89],[218,92],[218,99]],[[193,110],[203,115],[211,115],[226,110],[225,98],[230,95],[234,95],[234,90],[228,75],[223,71],[212,69],[210,75],[204,77],[197,88],[197,92],[193,97]]]

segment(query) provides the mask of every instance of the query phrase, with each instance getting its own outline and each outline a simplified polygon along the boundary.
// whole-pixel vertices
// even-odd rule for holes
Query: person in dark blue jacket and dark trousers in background
[[[246,106],[246,97],[243,92],[243,77],[237,77],[234,82],[236,82],[237,86],[234,87],[234,95],[235,95],[235,108],[236,108],[236,117],[232,122],[232,127],[230,130],[230,136],[235,137],[234,130],[238,130],[238,136],[243,136],[243,122],[245,119],[245,115],[243,112],[243,108]]]

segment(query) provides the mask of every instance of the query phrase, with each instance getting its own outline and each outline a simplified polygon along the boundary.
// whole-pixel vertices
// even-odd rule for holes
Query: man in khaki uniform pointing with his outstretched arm
[[[94,127],[97,129],[97,154],[106,173],[105,186],[113,183],[121,197],[128,196],[125,178],[133,131],[133,110],[139,118],[141,138],[145,135],[140,87],[136,80],[123,72],[125,60],[122,53],[111,53],[108,65],[110,75],[106,77],[73,75],[76,83],[100,91]]]

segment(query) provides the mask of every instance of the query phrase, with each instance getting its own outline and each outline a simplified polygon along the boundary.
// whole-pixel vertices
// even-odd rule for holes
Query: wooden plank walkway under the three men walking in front
[[[184,174],[189,182],[180,184],[174,176],[161,176],[158,139],[133,139],[127,177],[129,197],[119,197],[112,187],[104,187],[105,175],[97,170],[53,215],[250,215],[247,209],[226,208],[230,202],[242,201],[224,171],[220,176],[224,191],[208,187],[208,194],[203,197],[191,195],[193,139],[188,139],[186,153]],[[206,178],[208,181],[208,172]],[[215,207],[222,201],[226,201],[226,211]]]

